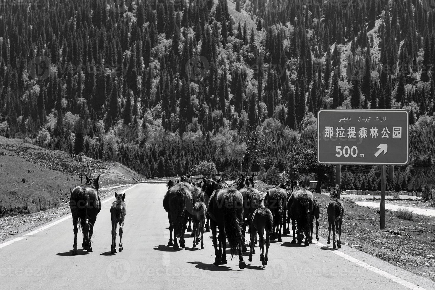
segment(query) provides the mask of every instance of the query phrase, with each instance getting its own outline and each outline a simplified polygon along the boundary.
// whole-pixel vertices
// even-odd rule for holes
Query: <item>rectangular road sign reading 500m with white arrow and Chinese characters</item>
[[[319,163],[408,163],[406,110],[319,110]]]

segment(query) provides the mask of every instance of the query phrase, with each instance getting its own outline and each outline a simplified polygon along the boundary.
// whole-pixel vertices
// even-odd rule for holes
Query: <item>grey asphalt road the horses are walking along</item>
[[[0,244],[0,289],[435,289],[434,282],[358,250],[332,250],[323,238],[309,247],[291,244],[290,236],[271,242],[266,267],[258,250],[252,262],[245,255],[244,270],[237,257],[216,267],[211,233],[204,234],[204,250],[192,249],[190,237],[184,250],[166,246],[165,192],[164,184],[155,183],[126,190],[120,253],[110,254],[114,198],[103,203],[97,217],[93,253],[79,249],[71,256],[74,234],[68,217]]]

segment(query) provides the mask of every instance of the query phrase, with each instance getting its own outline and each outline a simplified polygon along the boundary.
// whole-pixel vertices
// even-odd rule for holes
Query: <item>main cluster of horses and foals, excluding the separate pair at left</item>
[[[261,198],[260,192],[255,188],[254,174],[251,176],[241,174],[231,186],[223,177],[204,177],[202,181],[195,182],[185,175],[181,175],[177,182],[169,180],[166,185],[167,193],[163,199],[163,207],[169,220],[168,247],[184,248],[184,234],[186,230],[192,230],[191,223],[193,223],[191,234],[194,238],[193,247],[201,241],[201,249],[204,249],[205,227],[206,231],[211,230],[212,233],[216,266],[227,264],[228,240],[231,258],[238,255],[239,268],[246,267],[243,252],[248,250],[245,245],[248,225],[249,261],[252,261],[252,254],[255,253],[258,233],[260,260],[263,266],[268,262],[270,240],[281,242],[281,233],[283,235],[290,233],[290,220],[293,230],[291,243],[296,243],[297,239],[300,245],[305,237],[304,245],[309,246],[313,240],[314,218],[316,238],[319,240],[320,204],[314,199],[313,193],[300,187],[298,182],[289,181],[275,185],[267,191],[264,198]],[[337,198],[335,190],[330,191],[330,197],[327,208],[328,244],[331,243],[332,230],[332,243],[335,249],[336,241],[337,247],[341,248],[341,221],[344,207],[341,200]]]

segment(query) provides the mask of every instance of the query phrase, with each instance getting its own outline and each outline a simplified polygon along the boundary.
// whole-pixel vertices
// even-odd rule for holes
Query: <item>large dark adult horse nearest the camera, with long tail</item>
[[[246,267],[243,261],[242,245],[245,240],[242,235],[243,221],[243,196],[234,187],[225,187],[215,190],[207,204],[207,212],[210,216],[210,226],[213,235],[214,265],[219,266],[227,263],[227,239],[230,243],[231,259],[238,252],[239,268]],[[216,227],[219,228],[219,250],[216,238]]]

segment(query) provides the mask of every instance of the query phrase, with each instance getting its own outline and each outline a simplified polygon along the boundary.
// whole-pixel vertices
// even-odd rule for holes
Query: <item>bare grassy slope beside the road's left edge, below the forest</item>
[[[53,206],[56,193],[59,204],[60,191],[65,198],[65,193],[69,193],[70,188],[80,185],[80,182],[84,183],[85,179],[80,179],[77,170],[80,164],[67,153],[45,150],[22,143],[21,140],[4,137],[0,137],[0,152],[6,154],[0,156],[0,200],[3,200],[3,207],[24,206],[27,202],[33,212],[39,210],[39,199],[43,206],[48,207],[50,196],[50,204]],[[118,162],[106,164],[86,159],[97,168],[94,174],[101,174],[100,187],[135,183],[140,178],[139,174]],[[25,183],[22,179],[25,179]]]

